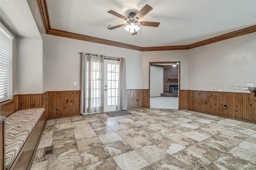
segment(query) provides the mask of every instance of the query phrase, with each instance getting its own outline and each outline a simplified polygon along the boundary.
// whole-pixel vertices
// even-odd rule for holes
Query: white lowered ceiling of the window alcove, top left
[[[15,36],[42,39],[26,0],[0,0],[0,20]]]

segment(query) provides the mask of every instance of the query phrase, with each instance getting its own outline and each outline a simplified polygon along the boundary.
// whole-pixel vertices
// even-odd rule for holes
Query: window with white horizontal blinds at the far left
[[[12,39],[0,24],[0,102],[12,99]]]

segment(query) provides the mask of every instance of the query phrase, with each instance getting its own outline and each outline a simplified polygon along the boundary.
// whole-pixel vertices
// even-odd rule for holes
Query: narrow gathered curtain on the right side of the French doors
[[[126,68],[125,58],[120,58],[119,61],[119,78],[118,78],[118,96],[117,96],[117,110],[127,109],[126,101]]]

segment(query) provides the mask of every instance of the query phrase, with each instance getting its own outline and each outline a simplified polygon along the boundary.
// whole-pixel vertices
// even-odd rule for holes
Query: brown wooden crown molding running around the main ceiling
[[[233,31],[231,33],[226,33],[226,34],[223,34],[223,35],[220,35],[217,37],[213,37],[213,38],[206,39],[206,40],[203,40],[203,41],[200,41],[197,43],[193,43],[190,45],[164,46],[164,47],[139,47],[139,46],[130,45],[130,44],[126,44],[126,43],[120,43],[120,42],[111,41],[111,40],[107,40],[107,39],[91,37],[88,35],[82,35],[82,34],[78,34],[78,33],[62,31],[59,29],[52,29],[50,27],[50,19],[49,19],[46,0],[37,0],[37,3],[38,3],[38,8],[40,10],[41,16],[42,16],[42,21],[44,23],[44,29],[46,31],[46,34],[48,34],[48,35],[56,35],[56,36],[60,36],[60,37],[78,39],[78,40],[82,40],[82,41],[89,41],[89,42],[93,42],[93,43],[111,45],[114,47],[121,47],[121,48],[126,48],[126,49],[137,50],[137,51],[188,50],[188,49],[193,49],[196,47],[201,47],[203,45],[208,45],[208,44],[216,43],[219,41],[224,41],[226,39],[231,39],[231,38],[238,37],[241,35],[246,35],[246,34],[256,32],[256,25],[253,25],[250,27],[239,29],[237,31]]]

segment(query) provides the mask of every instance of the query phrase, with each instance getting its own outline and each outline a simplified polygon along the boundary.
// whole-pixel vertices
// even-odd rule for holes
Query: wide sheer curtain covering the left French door
[[[104,57],[81,53],[80,114],[103,111]]]

